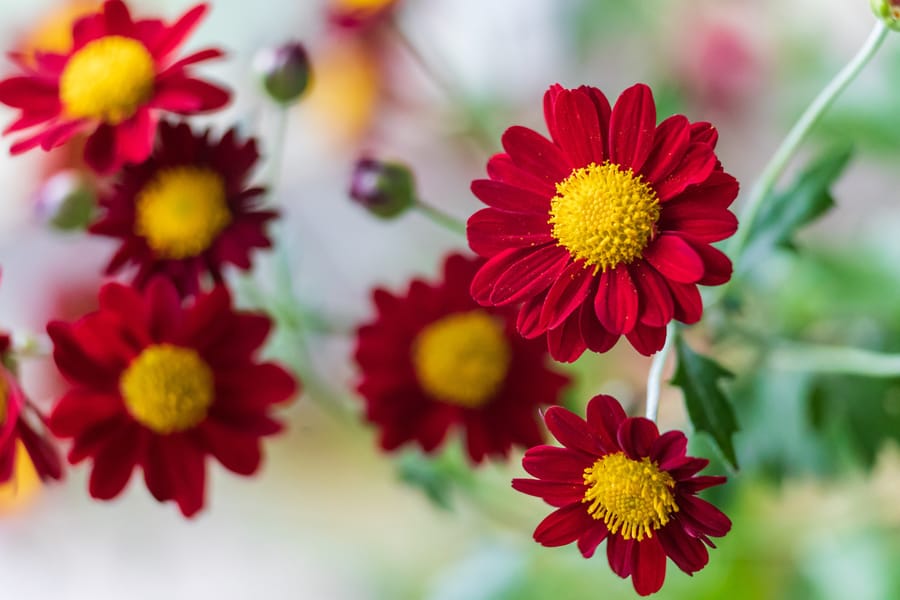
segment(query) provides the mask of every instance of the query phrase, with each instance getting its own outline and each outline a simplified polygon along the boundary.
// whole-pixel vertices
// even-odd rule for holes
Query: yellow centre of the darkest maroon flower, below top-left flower
[[[135,201],[134,232],[157,256],[197,256],[231,223],[225,182],[209,169],[163,169]]]

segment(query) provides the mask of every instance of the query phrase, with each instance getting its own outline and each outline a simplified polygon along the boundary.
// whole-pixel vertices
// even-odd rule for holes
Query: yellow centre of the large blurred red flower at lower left
[[[215,398],[213,372],[190,348],[148,346],[119,379],[128,412],[166,435],[198,425]]]

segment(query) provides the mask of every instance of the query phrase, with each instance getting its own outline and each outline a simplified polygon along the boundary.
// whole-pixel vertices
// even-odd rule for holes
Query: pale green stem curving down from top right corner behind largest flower
[[[800,115],[800,118],[781,143],[781,146],[778,147],[778,150],[775,151],[775,154],[769,160],[765,169],[763,169],[762,174],[750,192],[747,202],[744,204],[738,218],[741,226],[732,238],[728,248],[735,265],[737,265],[740,255],[747,245],[748,236],[753,229],[753,222],[759,216],[763,201],[784,173],[797,148],[803,143],[809,132],[819,122],[819,119],[835,99],[840,96],[841,92],[847,88],[850,82],[856,78],[863,67],[872,59],[878,48],[881,47],[882,42],[884,42],[888,31],[887,26],[882,21],[878,21],[875,24],[863,46],[850,62],[835,75],[834,79],[825,86],[825,89],[816,96],[803,114]],[[724,295],[724,289],[727,285],[725,284],[719,288],[720,292],[722,292],[720,296]]]

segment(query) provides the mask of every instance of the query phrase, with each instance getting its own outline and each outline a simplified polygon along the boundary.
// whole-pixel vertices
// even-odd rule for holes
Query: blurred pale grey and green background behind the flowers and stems
[[[73,15],[96,4],[0,0],[0,46],[64,48]],[[191,5],[129,4],[168,20]],[[716,125],[719,158],[746,190],[796,116],[862,44],[874,24],[868,2],[404,0],[390,25],[356,28],[331,24],[329,6],[374,2],[210,4],[189,48],[228,51],[198,73],[227,83],[235,96],[206,121],[219,130],[237,123],[261,139],[268,157],[281,121],[260,90],[253,57],[292,39],[310,53],[313,88],[289,111],[274,201],[327,393],[283,411],[288,431],[269,440],[253,480],[211,465],[207,508],[192,521],[156,504],[140,477],[100,503],[88,497],[84,465],[48,488],[23,469],[0,490],[4,594],[634,597],[602,549],[584,560],[574,547],[531,540],[549,508],[510,488],[522,475],[520,455],[473,472],[452,444],[434,460],[378,450],[349,391],[353,330],[373,315],[372,286],[399,292],[413,276],[434,277],[441,257],[465,240],[420,214],[374,219],[347,197],[352,165],[362,154],[405,162],[424,200],[465,219],[479,208],[469,183],[484,175],[502,131],[512,124],[546,131],[541,98],[550,84],[595,85],[612,98],[641,81],[653,87],[660,119],[678,112]],[[778,338],[900,351],[898,42],[888,39],[796,162],[853,145],[834,209],[801,232],[796,251],[752,265],[742,305],[694,338],[712,344],[737,374],[728,391],[741,425],[741,470],[717,460],[703,436],[692,442],[692,453],[713,457],[708,473],[729,475],[710,499],[734,528],[693,578],[670,563],[659,598],[900,597],[900,378],[789,370],[766,352]],[[0,110],[0,121],[12,118]],[[0,321],[25,338],[49,319],[93,307],[115,242],[48,226],[58,196],[48,181],[77,174],[71,151],[13,158],[9,143],[2,141],[0,156]],[[261,181],[267,169],[263,163]],[[252,278],[234,278],[246,305],[276,287],[273,257],[257,259]],[[740,328],[754,335],[733,333]],[[291,365],[305,360],[295,344],[282,335],[269,352]],[[580,411],[603,392],[639,411],[648,366],[628,347],[588,357],[569,368],[578,380],[568,402]],[[37,357],[22,369],[25,389],[49,407],[60,391],[52,364]],[[660,426],[689,427],[677,389],[664,390]]]

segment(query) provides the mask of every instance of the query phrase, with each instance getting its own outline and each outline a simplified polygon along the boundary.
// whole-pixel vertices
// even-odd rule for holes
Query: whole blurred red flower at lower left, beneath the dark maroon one
[[[144,292],[107,284],[99,310],[50,323],[53,358],[72,387],[49,425],[74,438],[69,462],[93,459],[91,495],[114,498],[140,466],[157,500],[191,516],[203,507],[207,454],[256,472],[260,437],[281,430],[272,406],[297,388],[284,369],[253,358],[270,325],[235,312],[223,286],[184,305],[163,278]]]

